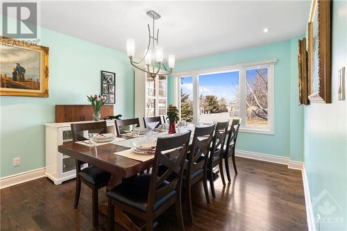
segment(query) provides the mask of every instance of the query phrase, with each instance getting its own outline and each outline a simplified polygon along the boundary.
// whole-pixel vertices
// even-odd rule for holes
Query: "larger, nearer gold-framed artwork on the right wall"
[[[308,23],[308,99],[331,103],[331,0],[312,0]]]

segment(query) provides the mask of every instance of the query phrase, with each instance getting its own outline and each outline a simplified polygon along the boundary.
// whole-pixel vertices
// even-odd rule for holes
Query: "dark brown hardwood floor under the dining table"
[[[307,230],[301,171],[240,157],[237,166],[239,174],[232,171],[233,180],[226,187],[217,178],[217,198],[211,205],[205,203],[201,184],[194,187],[195,223],[186,230]],[[2,189],[1,231],[96,230],[90,189],[82,186],[78,209],[73,207],[74,191],[75,180],[57,186],[46,178]],[[100,200],[106,202],[103,192]],[[99,230],[105,230],[105,224],[101,215]],[[157,230],[177,229],[170,209],[158,220]]]

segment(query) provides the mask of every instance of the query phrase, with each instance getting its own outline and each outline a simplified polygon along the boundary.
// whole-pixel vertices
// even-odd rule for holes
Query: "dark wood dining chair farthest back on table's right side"
[[[237,174],[236,162],[235,162],[235,146],[237,135],[239,134],[239,126],[241,119],[232,119],[231,128],[228,131],[228,139],[226,140],[226,145],[224,146],[223,158],[226,166],[226,176],[228,177],[228,182],[231,182],[230,170],[229,170],[229,157],[232,157],[232,165],[234,165],[235,174]]]

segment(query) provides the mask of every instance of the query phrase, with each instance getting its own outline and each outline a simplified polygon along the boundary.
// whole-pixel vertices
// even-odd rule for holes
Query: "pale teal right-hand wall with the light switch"
[[[332,103],[305,107],[304,155],[314,219],[318,214],[344,219],[342,224],[321,223],[321,230],[329,231],[347,230],[347,101],[337,98],[338,71],[347,67],[347,1],[333,1],[332,8]],[[314,204],[314,198],[324,190],[338,205],[330,196]],[[332,214],[319,212],[325,201],[335,207]]]

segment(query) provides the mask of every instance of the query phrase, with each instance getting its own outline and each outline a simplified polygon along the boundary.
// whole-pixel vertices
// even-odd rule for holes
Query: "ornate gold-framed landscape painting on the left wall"
[[[0,37],[0,95],[48,97],[49,47]]]

